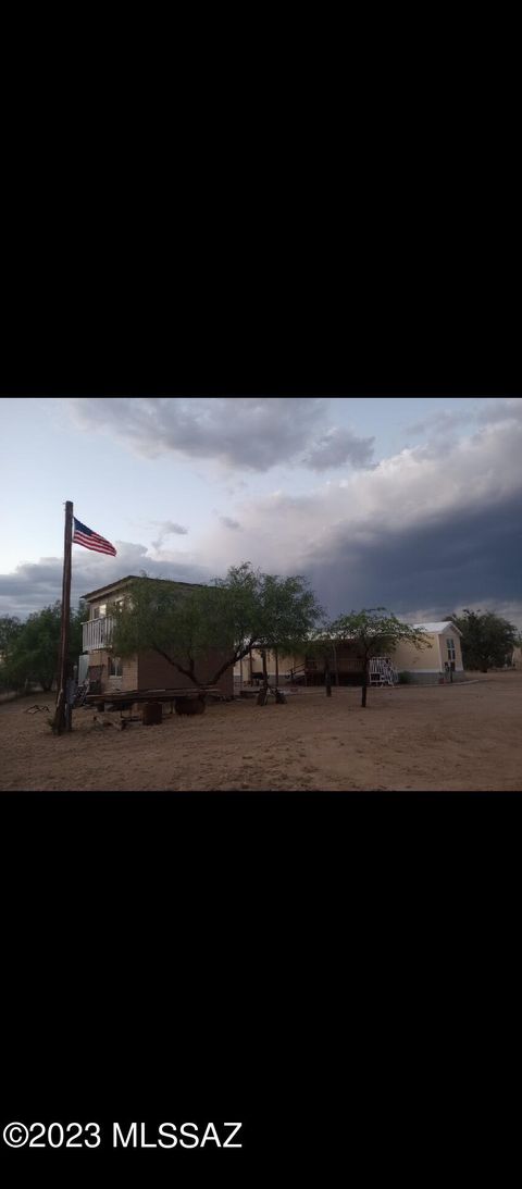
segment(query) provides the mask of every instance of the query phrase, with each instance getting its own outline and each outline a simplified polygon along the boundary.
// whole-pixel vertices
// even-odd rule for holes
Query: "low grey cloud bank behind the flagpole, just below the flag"
[[[143,545],[118,541],[118,555],[106,558],[89,551],[73,552],[71,568],[71,606],[87,591],[106,586],[108,583],[124,578],[125,574],[139,574],[145,571],[151,578],[177,578],[180,581],[205,583],[213,574],[205,566],[190,562],[155,560],[147,555]],[[84,554],[84,555],[83,555]],[[0,615],[17,615],[20,619],[31,611],[39,611],[62,598],[61,558],[42,558],[36,562],[21,562],[12,574],[0,574]]]

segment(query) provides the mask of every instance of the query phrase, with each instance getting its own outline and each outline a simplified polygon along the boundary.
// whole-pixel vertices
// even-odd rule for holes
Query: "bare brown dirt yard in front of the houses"
[[[56,737],[54,694],[0,705],[0,789],[522,791],[522,672],[468,684],[301,690],[287,704],[210,703],[124,731],[74,712]],[[165,712],[166,711],[166,712]],[[119,715],[115,715],[118,718]]]

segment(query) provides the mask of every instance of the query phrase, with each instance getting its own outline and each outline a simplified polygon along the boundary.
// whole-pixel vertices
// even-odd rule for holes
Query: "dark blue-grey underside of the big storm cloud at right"
[[[338,531],[307,562],[332,614],[384,605],[449,615],[512,602],[522,609],[522,495],[491,507],[447,510],[401,530],[372,527],[370,540]]]

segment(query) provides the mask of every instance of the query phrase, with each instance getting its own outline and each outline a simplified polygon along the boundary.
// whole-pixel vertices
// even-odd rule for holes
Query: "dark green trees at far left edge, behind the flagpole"
[[[52,688],[57,678],[62,606],[59,600],[42,611],[33,611],[25,623],[17,623],[10,637],[2,666],[4,684],[23,690],[36,681],[43,690]],[[86,606],[71,611],[69,625],[69,663],[74,665],[82,652],[82,623]]]

